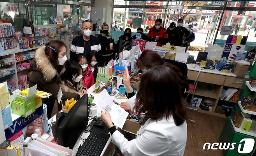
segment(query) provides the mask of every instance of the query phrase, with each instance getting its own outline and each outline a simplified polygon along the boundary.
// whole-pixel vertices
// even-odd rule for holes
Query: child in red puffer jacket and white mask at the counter
[[[88,65],[87,59],[83,54],[78,54],[75,57],[75,62],[82,66],[82,85],[83,87],[90,88],[94,85],[93,71],[91,66]]]

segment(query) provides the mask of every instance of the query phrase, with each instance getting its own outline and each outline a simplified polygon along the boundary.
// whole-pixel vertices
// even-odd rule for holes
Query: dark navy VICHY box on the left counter
[[[16,120],[12,121],[12,126],[4,130],[5,139],[6,140],[10,139],[14,134],[21,131],[24,127],[32,123],[32,121],[36,120],[42,114],[44,114],[44,109],[43,109],[43,106],[40,106],[38,109],[36,109],[32,114],[30,114],[26,118],[20,116]]]

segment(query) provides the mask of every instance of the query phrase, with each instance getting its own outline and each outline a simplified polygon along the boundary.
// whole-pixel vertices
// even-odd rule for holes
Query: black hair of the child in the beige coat
[[[75,61],[68,61],[66,64],[66,70],[61,75],[61,80],[67,83],[70,81],[74,85],[73,75],[79,76],[82,71],[82,66]]]

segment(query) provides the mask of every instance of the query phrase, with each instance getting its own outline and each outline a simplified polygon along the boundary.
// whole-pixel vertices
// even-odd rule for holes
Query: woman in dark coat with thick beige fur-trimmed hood
[[[50,94],[53,94],[49,98],[43,99],[43,103],[47,104],[47,115],[51,118],[51,112],[53,110],[54,101],[57,99],[60,86],[60,75],[56,68],[60,65],[59,53],[63,52],[63,57],[66,57],[66,47],[61,41],[53,40],[46,44],[46,47],[40,47],[35,52],[34,60],[31,63],[33,72],[29,79],[29,87],[37,84],[37,90],[41,90]],[[64,50],[63,50],[64,49]],[[71,99],[74,97],[75,100],[80,99],[80,95],[77,93],[63,92],[62,101]],[[59,108],[61,109],[61,108]]]

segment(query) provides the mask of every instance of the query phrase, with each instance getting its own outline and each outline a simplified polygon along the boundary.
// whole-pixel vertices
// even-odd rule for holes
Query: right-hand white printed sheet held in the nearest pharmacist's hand
[[[121,108],[120,106],[117,106],[116,104],[113,104],[109,114],[111,116],[112,122],[117,127],[122,129],[129,113],[124,111],[124,109]]]

